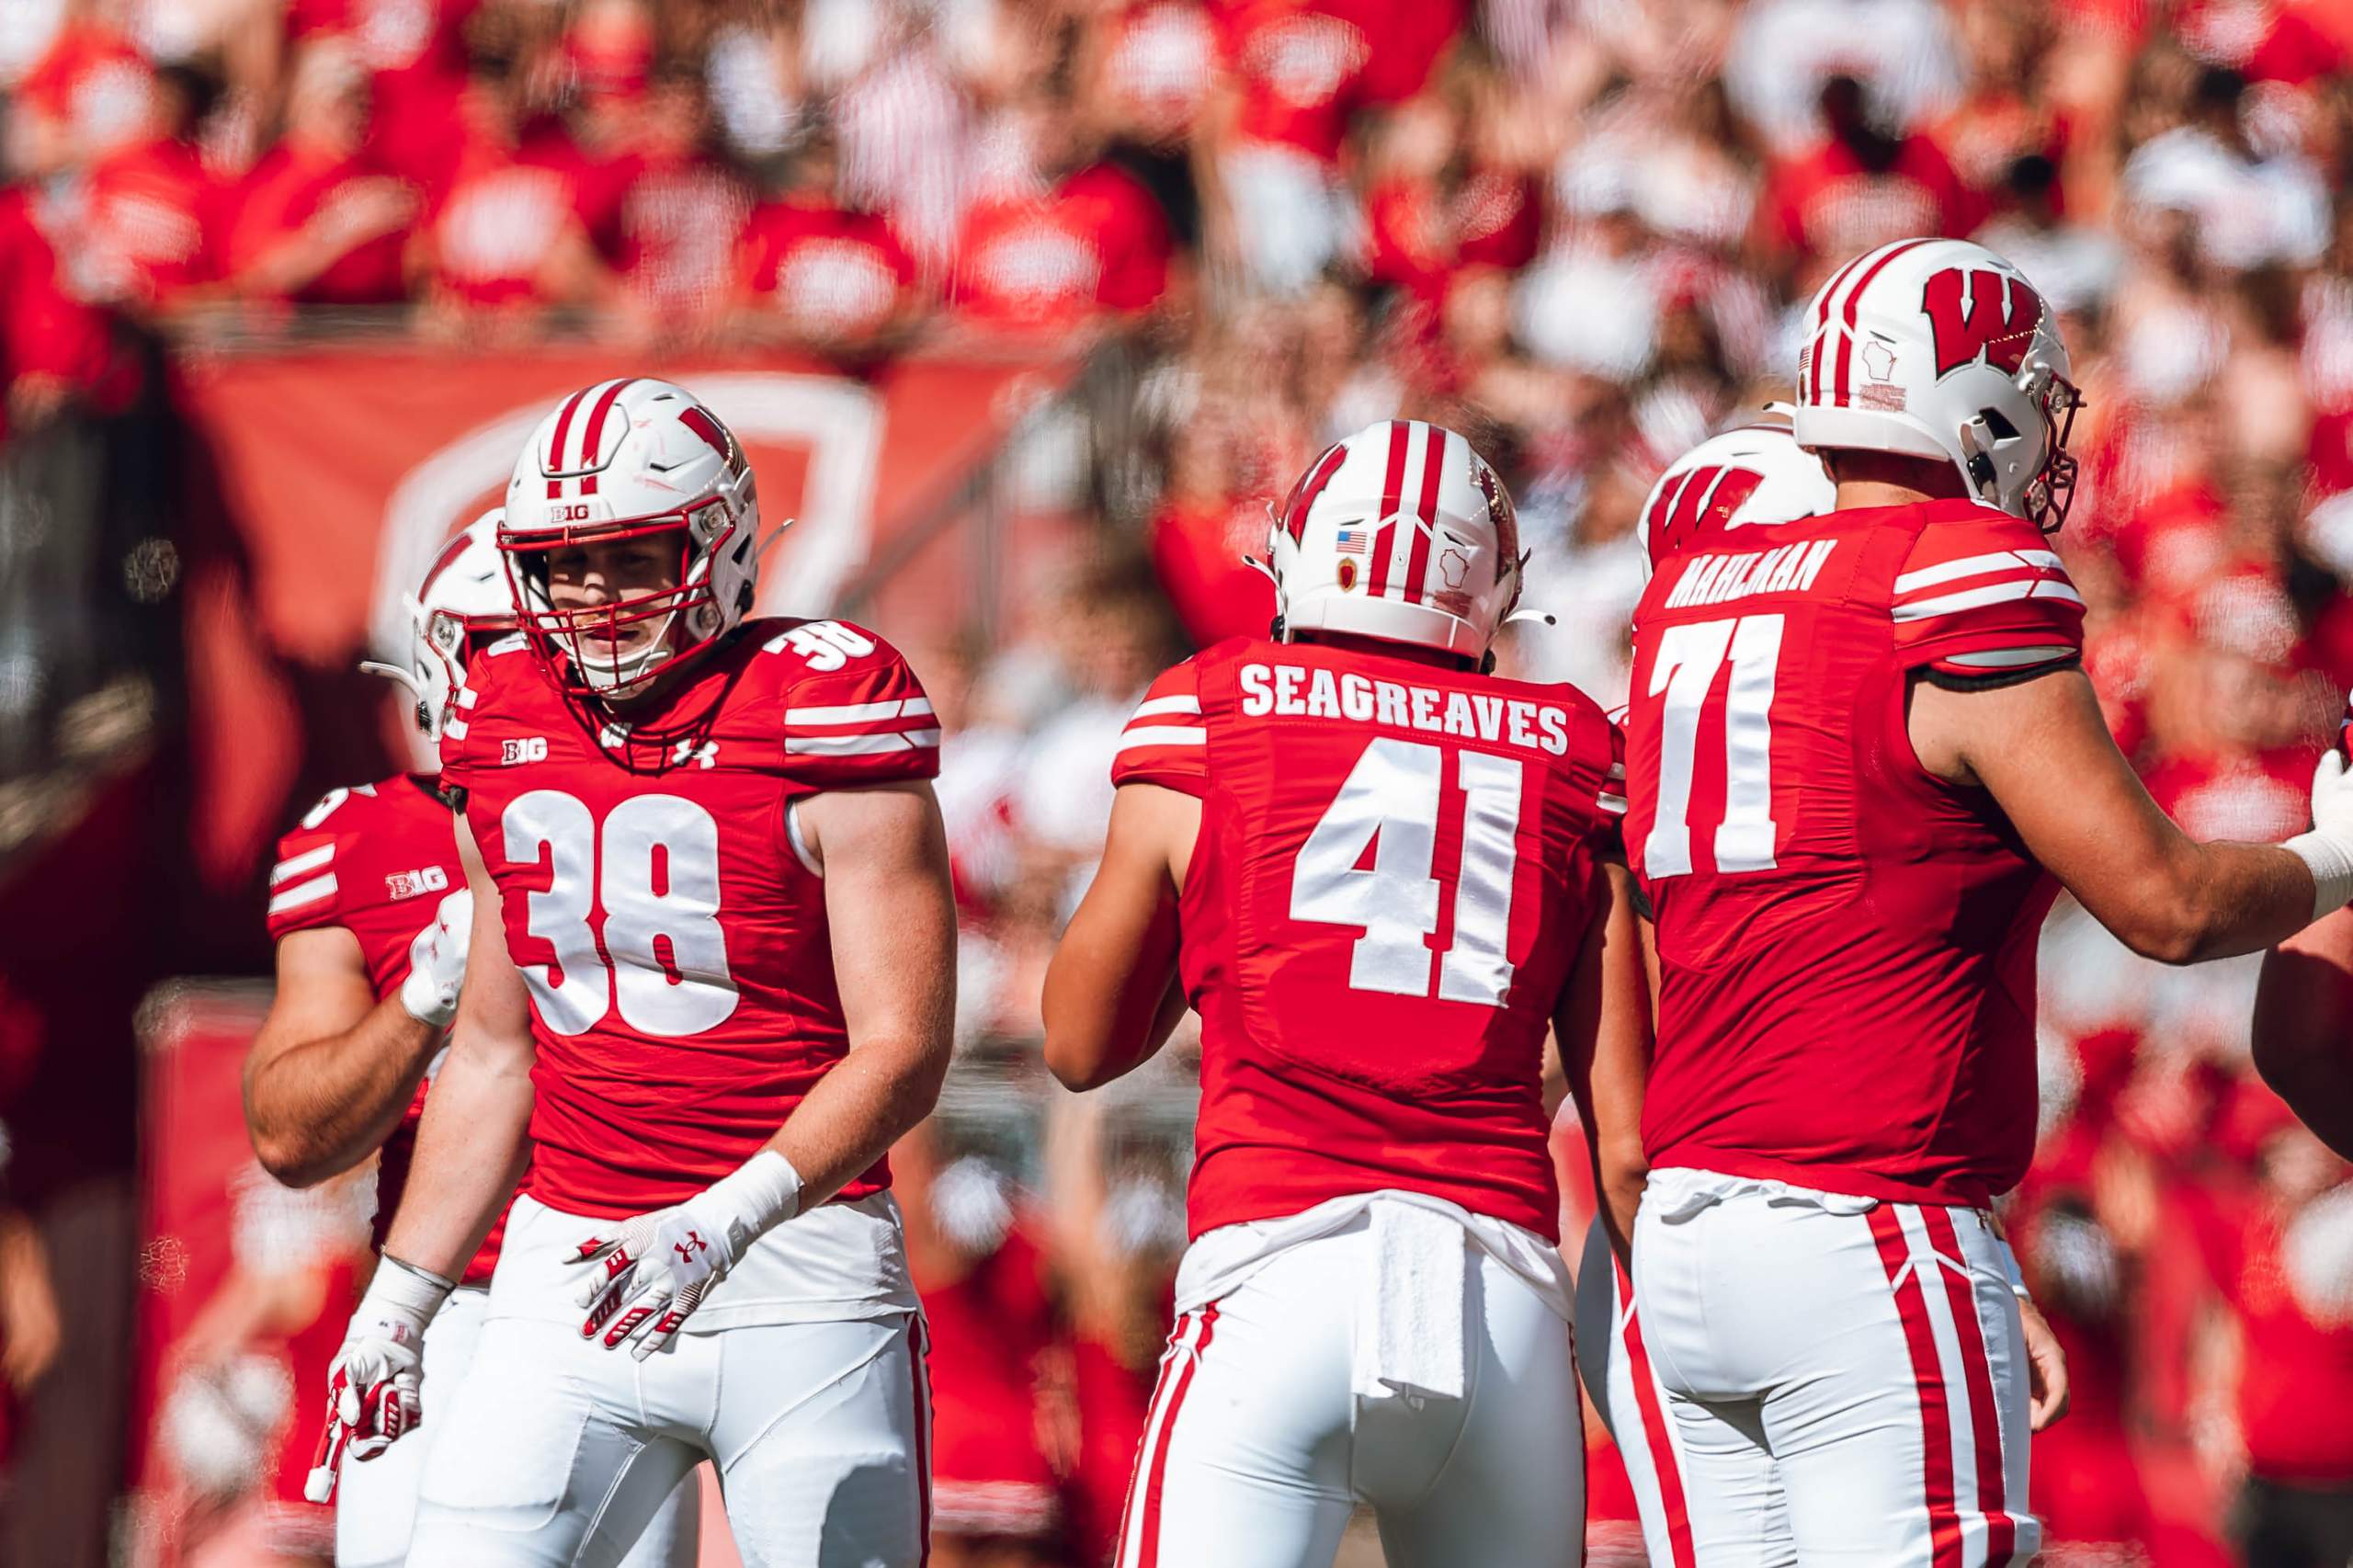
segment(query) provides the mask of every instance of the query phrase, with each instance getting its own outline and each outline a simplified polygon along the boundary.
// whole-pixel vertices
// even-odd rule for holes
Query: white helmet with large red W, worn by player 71
[[[1805,320],[1798,445],[1941,457],[1979,501],[2057,532],[2082,393],[2026,273],[1969,240],[1897,240],[1833,273]]]

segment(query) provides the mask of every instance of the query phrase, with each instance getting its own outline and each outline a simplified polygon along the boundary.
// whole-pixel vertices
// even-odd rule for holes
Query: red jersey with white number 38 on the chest
[[[779,619],[635,718],[659,746],[591,723],[520,636],[475,657],[459,704],[442,786],[506,895],[539,1043],[525,1191],[607,1220],[689,1198],[849,1050],[791,805],[934,777],[932,704],[871,631]],[[840,1196],[887,1184],[875,1161]]]

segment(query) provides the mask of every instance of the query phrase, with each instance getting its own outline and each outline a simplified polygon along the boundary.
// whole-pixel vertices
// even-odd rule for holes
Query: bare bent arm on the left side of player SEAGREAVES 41
[[[1200,800],[1122,784],[1104,862],[1045,972],[1045,1064],[1089,1090],[1134,1071],[1184,1017],[1176,885],[1200,833]]]

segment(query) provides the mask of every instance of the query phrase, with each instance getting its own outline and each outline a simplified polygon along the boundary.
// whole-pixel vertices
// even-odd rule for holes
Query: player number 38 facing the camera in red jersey
[[[515,464],[522,631],[442,727],[468,979],[386,1241],[407,1293],[346,1351],[414,1387],[527,1165],[414,1561],[612,1561],[704,1457],[746,1561],[922,1559],[882,1151],[948,1062],[939,720],[880,638],[746,619],[758,534],[744,450],[666,381],[565,398]]]

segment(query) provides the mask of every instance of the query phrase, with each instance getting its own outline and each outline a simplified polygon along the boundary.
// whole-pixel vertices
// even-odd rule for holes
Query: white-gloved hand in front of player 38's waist
[[[762,1149],[685,1203],[584,1236],[572,1250],[588,1274],[576,1297],[588,1311],[581,1337],[602,1333],[605,1349],[628,1344],[645,1361],[678,1337],[753,1241],[795,1212],[800,1172]]]

